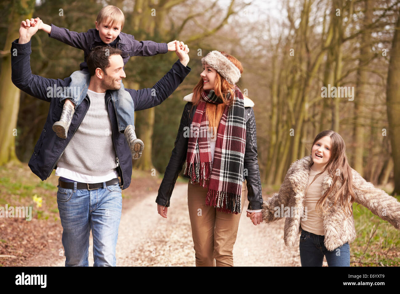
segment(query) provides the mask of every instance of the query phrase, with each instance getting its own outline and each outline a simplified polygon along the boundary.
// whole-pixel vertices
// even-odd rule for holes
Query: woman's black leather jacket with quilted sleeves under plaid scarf
[[[190,128],[194,112],[196,111],[196,106],[194,106],[193,110],[190,112],[191,108],[192,102],[188,102],[182,113],[170,162],[165,169],[164,178],[158,189],[156,202],[162,206],[170,206],[170,198],[174,190],[176,179],[186,161],[189,138],[185,138],[183,134],[185,126]],[[262,205],[261,179],[257,160],[256,119],[254,118],[252,107],[245,107],[244,112],[246,116],[246,148],[244,152],[243,181],[245,179],[247,180],[247,198],[250,202],[247,209],[255,210],[261,209]],[[188,176],[184,177],[189,178]]]

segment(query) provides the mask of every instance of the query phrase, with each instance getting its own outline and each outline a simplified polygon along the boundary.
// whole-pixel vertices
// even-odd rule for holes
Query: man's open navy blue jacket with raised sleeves
[[[14,56],[16,49],[16,56]],[[26,44],[18,44],[18,39],[12,42],[11,47],[11,79],[14,85],[22,91],[37,97],[41,100],[50,102],[50,108],[46,123],[44,124],[40,138],[36,143],[34,152],[29,161],[29,167],[42,181],[46,180],[52,170],[56,168],[56,163],[64,152],[68,142],[70,142],[75,131],[80,126],[88,108],[90,100],[88,96],[76,108],[72,118],[67,138],[59,138],[52,130],[54,122],[59,120],[63,105],[60,103],[60,98],[54,95],[58,90],[56,87],[66,87],[70,84],[71,79],[49,79],[42,76],[32,74],[30,68],[31,41]],[[183,66],[178,60],[174,63],[169,72],[165,74],[152,88],[141,90],[125,89],[132,96],[135,110],[143,110],[152,108],[162,103],[168,96],[174,92],[179,84],[184,80],[190,72],[188,66]],[[152,91],[152,89],[154,89]],[[153,94],[152,94],[153,92]],[[155,93],[155,95],[154,95]],[[132,156],[128,144],[126,143],[124,134],[118,132],[118,126],[115,116],[114,105],[111,102],[111,94],[106,92],[106,106],[108,115],[112,124],[112,141],[114,143],[118,174],[121,178],[121,188],[126,189],[130,185],[132,176]]]

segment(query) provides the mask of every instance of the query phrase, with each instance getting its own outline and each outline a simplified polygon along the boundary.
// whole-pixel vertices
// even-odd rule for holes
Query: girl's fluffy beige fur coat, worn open
[[[283,207],[289,207],[294,211],[303,211],[305,192],[308,186],[308,176],[310,174],[310,166],[313,164],[312,156],[306,156],[293,162],[286,173],[284,181],[280,186],[279,192],[275,193],[262,204],[262,218],[265,222],[273,222],[286,215],[276,217],[275,212]],[[396,198],[386,194],[386,192],[375,188],[370,182],[367,182],[352,169],[353,184],[356,188],[366,191],[354,189],[356,194],[355,201],[376,214],[383,220],[390,222],[396,229],[400,230],[400,202]],[[342,185],[342,181],[338,179],[338,186]],[[332,175],[325,175],[322,179],[322,194],[332,185]],[[353,214],[346,218],[340,203],[334,205],[334,191],[328,195],[325,202],[325,209],[329,208],[326,213],[322,214],[324,218],[325,231],[325,247],[333,251],[342,246],[346,242],[353,242],[356,238],[356,230],[354,229]],[[333,206],[333,207],[332,207]],[[286,217],[284,228],[284,241],[286,246],[293,247],[298,243],[298,234],[301,232],[300,213],[294,213],[292,216]]]

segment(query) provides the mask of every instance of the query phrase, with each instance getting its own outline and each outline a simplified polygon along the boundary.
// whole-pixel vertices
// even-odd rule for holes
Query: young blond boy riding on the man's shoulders
[[[59,28],[52,24],[41,24],[39,29],[44,30],[51,38],[65,44],[84,50],[84,62],[80,64],[80,71],[71,75],[71,83],[60,98],[64,106],[60,121],[55,122],[53,130],[60,138],[66,138],[68,128],[71,124],[75,108],[84,100],[88,89],[90,75],[86,64],[86,58],[96,46],[112,46],[122,50],[124,65],[131,56],[153,56],[167,51],[175,51],[175,43],[156,43],[153,41],[138,42],[134,36],[122,33],[125,17],[123,12],[116,6],[108,5],[100,10],[96,19],[96,29],[90,29],[86,33],[70,32],[66,28]],[[183,48],[184,50],[185,48]],[[124,90],[122,80],[116,81],[115,91],[111,93],[118,130],[125,134],[126,141],[132,153],[132,159],[139,159],[142,155],[144,144],[136,138],[134,127],[134,105],[131,96]]]

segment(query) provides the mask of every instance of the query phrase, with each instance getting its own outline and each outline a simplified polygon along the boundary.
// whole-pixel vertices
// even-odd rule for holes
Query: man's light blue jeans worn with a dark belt
[[[58,186],[65,266],[88,266],[89,234],[93,236],[94,266],[116,266],[115,247],[122,211],[119,184],[96,190]]]

